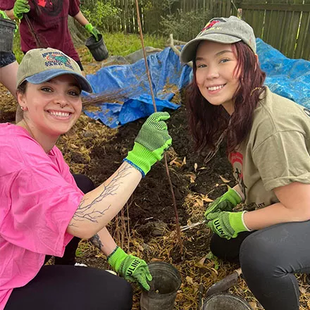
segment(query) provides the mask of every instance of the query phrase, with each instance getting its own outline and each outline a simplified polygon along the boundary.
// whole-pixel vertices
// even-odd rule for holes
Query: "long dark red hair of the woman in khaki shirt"
[[[214,106],[202,96],[196,82],[197,68],[194,61],[194,77],[186,89],[186,106],[197,151],[205,147],[214,149],[225,130],[228,153],[235,151],[251,129],[253,112],[259,95],[264,90],[266,74],[259,67],[255,54],[247,44],[237,42],[232,46],[237,58],[235,74],[239,74],[240,87],[233,96],[235,104],[231,116],[223,106]]]

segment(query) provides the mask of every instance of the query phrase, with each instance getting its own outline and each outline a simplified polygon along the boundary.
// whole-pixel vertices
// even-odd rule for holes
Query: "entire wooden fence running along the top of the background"
[[[120,8],[120,18],[106,25],[106,30],[138,32],[135,0],[101,1]],[[241,9],[242,19],[252,25],[256,37],[289,58],[310,60],[310,0],[139,0],[139,4],[142,28],[148,33],[162,32],[160,22],[169,15],[209,11],[211,18],[228,17],[237,16]],[[202,27],[206,22],[201,21]],[[195,35],[197,30],[190,32],[190,37]]]

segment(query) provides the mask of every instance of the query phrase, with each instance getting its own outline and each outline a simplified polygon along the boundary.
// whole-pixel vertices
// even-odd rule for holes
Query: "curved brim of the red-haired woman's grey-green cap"
[[[232,35],[223,35],[220,33],[210,33],[203,35],[201,37],[196,37],[192,39],[190,42],[187,42],[183,47],[180,60],[182,63],[189,63],[190,61],[194,61],[196,56],[197,47],[202,41],[212,41],[223,44],[233,44],[236,42],[240,42],[241,39],[239,37],[233,37]]]

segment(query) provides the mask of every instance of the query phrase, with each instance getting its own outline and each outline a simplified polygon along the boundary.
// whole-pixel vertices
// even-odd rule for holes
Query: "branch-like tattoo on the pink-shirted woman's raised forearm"
[[[73,220],[75,221],[84,221],[88,220],[94,223],[98,223],[99,218],[104,215],[106,210],[109,210],[111,204],[106,206],[106,209],[99,209],[97,204],[101,202],[102,199],[108,196],[114,196],[117,194],[117,190],[121,184],[123,184],[122,179],[125,178],[127,175],[130,175],[132,166],[128,163],[128,165],[124,165],[120,171],[113,177],[111,182],[104,186],[104,189],[96,197],[92,202],[89,202],[89,199],[82,199],[80,202],[80,206],[78,206],[77,211],[73,216]],[[74,225],[74,224],[71,224]],[[75,226],[75,225],[74,225]]]

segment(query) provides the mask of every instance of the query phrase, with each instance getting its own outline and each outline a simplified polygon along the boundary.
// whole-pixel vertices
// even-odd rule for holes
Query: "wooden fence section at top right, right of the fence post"
[[[310,0],[244,0],[242,19],[256,37],[289,58],[310,60]]]

